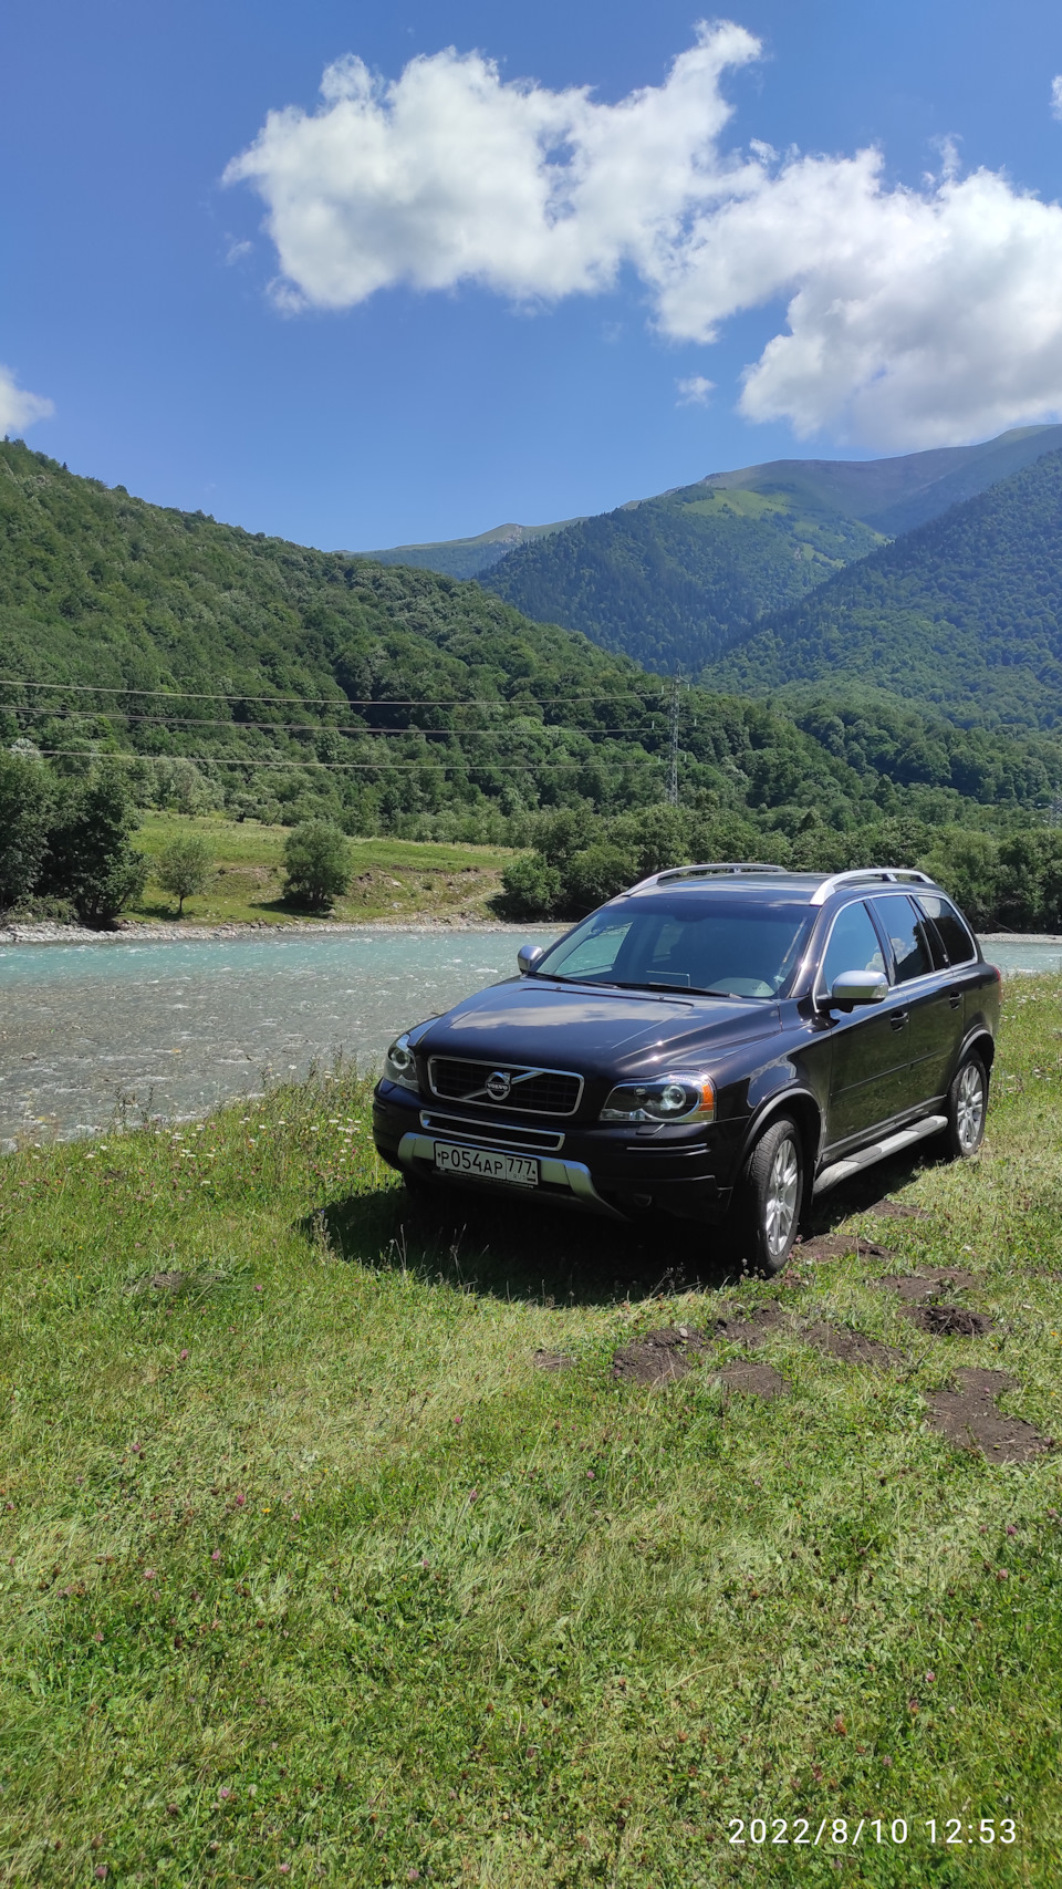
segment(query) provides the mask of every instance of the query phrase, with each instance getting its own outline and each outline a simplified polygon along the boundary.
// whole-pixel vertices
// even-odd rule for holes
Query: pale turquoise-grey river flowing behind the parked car
[[[123,1107],[200,1115],[336,1054],[368,1069],[399,1030],[510,977],[518,943],[484,927],[0,946],[0,1149],[93,1133]],[[1058,971],[1062,941],[992,939],[985,956]]]

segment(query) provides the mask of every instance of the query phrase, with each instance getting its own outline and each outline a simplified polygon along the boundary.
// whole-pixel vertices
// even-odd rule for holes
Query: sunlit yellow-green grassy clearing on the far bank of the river
[[[214,875],[204,893],[185,899],[189,924],[291,924],[304,918],[282,903],[283,842],[289,827],[257,820],[219,820],[210,814],[144,814],[136,844],[159,856],[176,837],[198,833],[214,856]],[[403,839],[355,839],[353,882],[336,899],[336,918],[440,918],[461,912],[489,918],[488,899],[501,890],[501,873],[512,852],[497,846],[446,846]],[[178,901],[155,880],[125,918],[178,916]]]

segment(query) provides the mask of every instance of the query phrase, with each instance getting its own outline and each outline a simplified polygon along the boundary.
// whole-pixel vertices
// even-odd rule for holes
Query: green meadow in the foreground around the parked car
[[[1015,980],[983,1156],[879,1175],[928,1218],[830,1196],[896,1258],[773,1285],[680,1226],[433,1230],[342,1071],[4,1160],[0,1881],[1056,1885],[1060,1456],[926,1398],[1005,1368],[1060,1426],[1060,1037]],[[926,1262],[990,1336],[913,1328],[879,1277]],[[612,1377],[773,1303],[775,1402],[728,1341]]]

